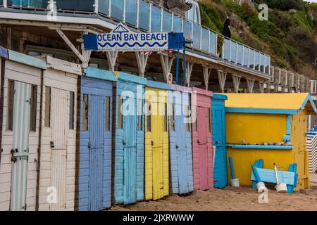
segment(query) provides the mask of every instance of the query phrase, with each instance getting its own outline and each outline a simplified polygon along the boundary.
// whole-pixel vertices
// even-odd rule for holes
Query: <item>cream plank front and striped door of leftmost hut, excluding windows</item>
[[[0,211],[31,211],[35,210],[36,203],[41,70],[11,60],[6,60],[1,65],[1,98],[3,98],[3,107],[1,107],[1,149],[4,151],[1,154],[0,164]],[[8,79],[15,81],[16,90],[16,110],[15,118],[13,119],[15,126],[13,131],[6,130]],[[30,104],[27,104],[27,102],[23,103],[23,101],[27,101],[27,98],[30,101],[31,84],[37,86],[37,120],[35,132],[30,131]],[[18,117],[18,115],[21,115],[21,117]],[[11,162],[13,156],[11,150],[13,148],[18,148],[18,153],[14,155],[19,161],[16,163]]]

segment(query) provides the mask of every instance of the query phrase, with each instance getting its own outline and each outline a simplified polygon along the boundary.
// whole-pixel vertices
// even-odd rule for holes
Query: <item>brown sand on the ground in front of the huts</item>
[[[259,193],[250,187],[224,189],[211,188],[209,191],[194,191],[186,196],[170,195],[163,200],[145,201],[133,205],[116,205],[111,210],[157,210],[157,211],[273,211],[313,210],[317,211],[317,174],[311,175],[311,189],[295,191],[293,194],[268,190],[268,203],[259,203]]]

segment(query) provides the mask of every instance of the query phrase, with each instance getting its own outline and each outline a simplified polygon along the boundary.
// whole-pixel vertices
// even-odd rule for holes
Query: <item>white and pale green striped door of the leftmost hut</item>
[[[26,210],[27,162],[29,157],[31,84],[15,82],[13,109],[13,149],[11,211]]]

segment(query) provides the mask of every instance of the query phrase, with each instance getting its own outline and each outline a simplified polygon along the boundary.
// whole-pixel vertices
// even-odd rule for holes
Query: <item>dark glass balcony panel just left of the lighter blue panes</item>
[[[94,11],[94,0],[56,0],[57,10]]]

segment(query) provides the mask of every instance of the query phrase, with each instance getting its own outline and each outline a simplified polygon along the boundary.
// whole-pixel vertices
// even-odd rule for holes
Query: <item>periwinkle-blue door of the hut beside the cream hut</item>
[[[103,208],[105,105],[103,96],[89,95],[89,211]]]

